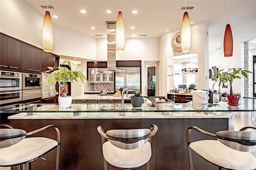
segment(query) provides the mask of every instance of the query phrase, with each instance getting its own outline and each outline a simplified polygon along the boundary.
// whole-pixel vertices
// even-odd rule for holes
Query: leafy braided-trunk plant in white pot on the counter
[[[62,62],[62,65],[67,64],[71,68],[72,62],[68,60],[64,60]],[[73,64],[74,65],[74,64]],[[60,86],[62,89],[62,94],[61,96],[58,97],[58,102],[60,104],[61,108],[68,108],[70,107],[72,103],[72,96],[67,96],[67,82],[72,82],[74,81],[77,82],[77,79],[79,78],[82,83],[84,83],[84,80],[88,83],[88,80],[84,76],[84,74],[80,71],[71,71],[69,69],[63,68],[63,67],[47,67],[49,70],[45,71],[45,73],[50,73],[48,78],[44,80],[42,83],[44,83],[44,86],[47,84],[56,84],[58,82],[58,85],[60,86],[60,82],[62,82],[63,86]]]

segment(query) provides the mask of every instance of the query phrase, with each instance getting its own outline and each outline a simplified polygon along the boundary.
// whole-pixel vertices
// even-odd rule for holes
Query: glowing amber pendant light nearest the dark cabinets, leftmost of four
[[[42,45],[45,52],[52,52],[53,46],[53,30],[52,30],[52,20],[50,12],[48,11],[48,1],[47,1],[47,11],[44,16],[44,24],[42,30]]]

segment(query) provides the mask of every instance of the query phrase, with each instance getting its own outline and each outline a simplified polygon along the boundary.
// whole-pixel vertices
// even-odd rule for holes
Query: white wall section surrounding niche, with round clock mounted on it
[[[172,50],[171,40],[172,37],[179,32],[180,30],[174,30],[163,34],[161,37],[161,49],[160,49],[160,74],[163,77],[160,77],[162,80],[163,89],[160,91],[160,95],[166,95],[167,84],[173,83],[168,82],[167,74],[167,58],[173,56],[181,56],[184,54],[198,54],[198,89],[208,89],[208,54],[209,54],[209,44],[208,44],[208,26],[205,22],[195,24],[191,26],[191,50],[190,52],[176,52]],[[166,79],[167,77],[167,79]],[[166,85],[165,85],[166,84]]]

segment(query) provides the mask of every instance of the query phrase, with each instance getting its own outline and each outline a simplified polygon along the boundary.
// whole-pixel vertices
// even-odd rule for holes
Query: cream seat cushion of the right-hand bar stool
[[[199,140],[192,142],[189,147],[202,158],[226,169],[256,169],[256,158],[250,152],[231,149],[218,140]]]

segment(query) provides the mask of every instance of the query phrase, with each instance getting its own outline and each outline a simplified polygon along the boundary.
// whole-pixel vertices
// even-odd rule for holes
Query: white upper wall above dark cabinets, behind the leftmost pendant
[[[42,49],[44,16],[23,0],[0,1],[0,32]],[[96,38],[53,25],[52,53],[96,60]]]

